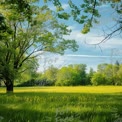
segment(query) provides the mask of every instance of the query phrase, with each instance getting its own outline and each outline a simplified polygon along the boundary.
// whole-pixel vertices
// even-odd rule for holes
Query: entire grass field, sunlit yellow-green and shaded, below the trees
[[[122,86],[0,88],[0,122],[122,122]]]

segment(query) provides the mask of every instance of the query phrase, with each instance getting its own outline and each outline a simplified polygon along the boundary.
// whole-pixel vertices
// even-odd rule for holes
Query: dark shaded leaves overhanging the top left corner
[[[3,8],[3,6],[9,6],[10,9],[14,9],[16,7],[17,13],[20,13],[28,20],[31,19],[32,9],[29,5],[29,2],[25,0],[2,0],[0,1],[0,5],[1,5],[0,8],[0,40],[1,40],[3,38],[5,39],[6,34],[11,34],[12,32],[11,28],[6,23],[6,16],[4,16],[2,11],[2,9],[5,9]]]

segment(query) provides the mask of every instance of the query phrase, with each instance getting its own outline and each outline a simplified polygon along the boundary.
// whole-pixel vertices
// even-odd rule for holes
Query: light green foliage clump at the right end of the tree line
[[[121,82],[122,65],[100,64],[98,71],[92,77],[93,85],[122,85]]]

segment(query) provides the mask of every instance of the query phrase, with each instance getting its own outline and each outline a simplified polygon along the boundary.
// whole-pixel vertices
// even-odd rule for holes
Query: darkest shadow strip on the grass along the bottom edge
[[[108,113],[72,112],[58,110],[56,112],[35,111],[28,109],[11,109],[1,106],[0,122],[121,122],[121,117]]]

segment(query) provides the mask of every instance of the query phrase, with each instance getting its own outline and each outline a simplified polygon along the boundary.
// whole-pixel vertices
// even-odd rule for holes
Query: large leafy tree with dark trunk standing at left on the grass
[[[17,75],[25,71],[26,64],[33,63],[37,56],[44,52],[63,54],[67,48],[73,51],[78,48],[75,40],[63,38],[71,32],[67,26],[59,24],[47,6],[39,7],[34,3],[33,0],[28,2],[31,11],[27,13],[27,8],[18,12],[18,2],[8,4],[3,0],[0,5],[3,21],[10,30],[10,33],[7,33],[8,29],[1,31],[5,36],[0,40],[0,79],[7,92],[13,92]]]

